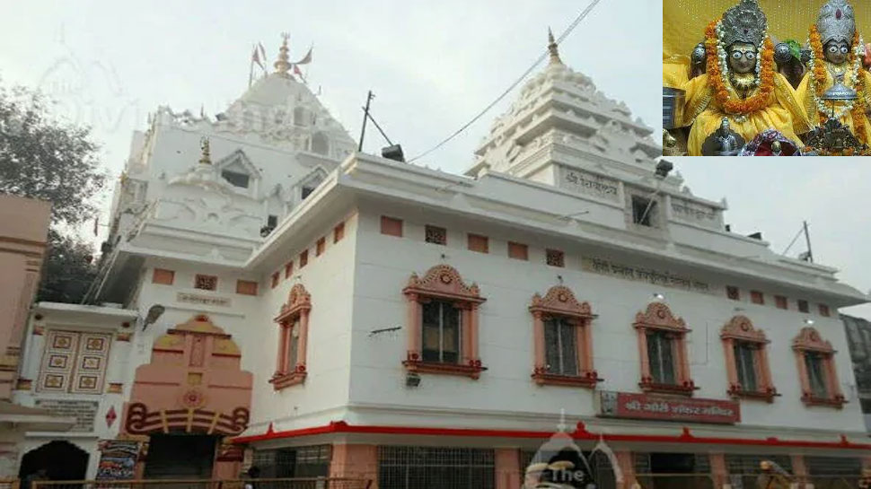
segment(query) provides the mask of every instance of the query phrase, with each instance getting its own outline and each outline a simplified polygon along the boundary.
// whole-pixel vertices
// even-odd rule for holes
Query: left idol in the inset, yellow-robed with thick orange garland
[[[706,30],[707,73],[683,85],[688,150],[702,154],[708,135],[728,118],[744,140],[776,129],[791,141],[810,130],[805,110],[787,79],[775,71],[774,45],[757,0],[741,0]]]

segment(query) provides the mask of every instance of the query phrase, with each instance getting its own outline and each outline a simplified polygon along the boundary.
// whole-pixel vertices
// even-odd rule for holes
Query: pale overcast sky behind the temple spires
[[[3,0],[0,78],[40,88],[57,112],[94,127],[111,175],[131,131],[161,104],[214,115],[245,91],[251,45],[274,61],[281,32],[291,58],[314,46],[312,92],[355,139],[365,93],[376,120],[408,157],[422,153],[488,105],[559,36],[589,0],[124,1]],[[560,45],[567,65],[591,76],[634,116],[661,128],[662,2],[601,0]],[[460,172],[516,91],[422,162]],[[365,151],[385,145],[369,131]],[[193,163],[193,162],[191,162]],[[780,252],[806,219],[814,256],[871,289],[871,163],[684,159],[699,196],[726,196],[735,231],[762,231]],[[108,207],[109,197],[105,198]],[[790,251],[803,251],[796,243]],[[871,319],[871,306],[848,310]]]

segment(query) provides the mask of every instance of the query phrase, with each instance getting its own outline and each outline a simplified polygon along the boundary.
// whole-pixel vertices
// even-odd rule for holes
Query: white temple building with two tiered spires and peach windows
[[[217,118],[157,109],[101,305],[32,311],[15,399],[79,423],[22,471],[54,443],[72,478],[517,489],[553,440],[603,488],[871,467],[837,313],[867,295],[728,231],[550,52],[464,175],[356,153],[286,46]]]

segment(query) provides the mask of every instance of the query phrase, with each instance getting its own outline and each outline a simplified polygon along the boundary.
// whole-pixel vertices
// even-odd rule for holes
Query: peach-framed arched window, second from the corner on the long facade
[[[593,370],[595,316],[588,302],[578,302],[571,289],[550,287],[548,293],[532,296],[532,330],[535,365],[532,379],[539,385],[556,384],[594,388],[601,381]]]

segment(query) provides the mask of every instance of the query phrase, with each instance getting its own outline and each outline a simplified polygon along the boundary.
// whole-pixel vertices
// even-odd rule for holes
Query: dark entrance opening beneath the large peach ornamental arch
[[[218,437],[154,434],[145,459],[146,479],[210,479]]]

